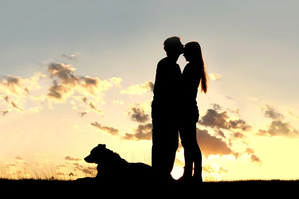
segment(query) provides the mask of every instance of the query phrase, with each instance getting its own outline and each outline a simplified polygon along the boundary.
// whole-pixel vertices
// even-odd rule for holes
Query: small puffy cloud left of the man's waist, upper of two
[[[144,123],[149,120],[150,115],[146,113],[144,107],[140,103],[130,104],[129,106],[130,111],[128,111],[128,115],[130,115],[131,120],[140,123]]]

